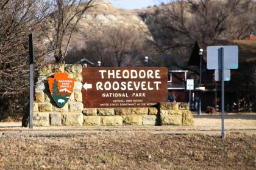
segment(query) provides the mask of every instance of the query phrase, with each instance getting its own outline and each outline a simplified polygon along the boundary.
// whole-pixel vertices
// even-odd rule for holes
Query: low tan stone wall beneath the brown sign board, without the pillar
[[[87,108],[84,126],[192,126],[188,103],[159,103],[149,108]]]

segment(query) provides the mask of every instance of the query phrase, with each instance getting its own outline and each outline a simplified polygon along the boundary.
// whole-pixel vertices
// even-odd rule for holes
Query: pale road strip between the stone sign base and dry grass
[[[256,134],[256,114],[229,114],[225,117],[226,134]],[[221,115],[194,115],[194,126],[83,126],[34,127],[30,130],[21,123],[0,123],[0,135],[65,136],[101,133],[152,134],[221,134]]]

